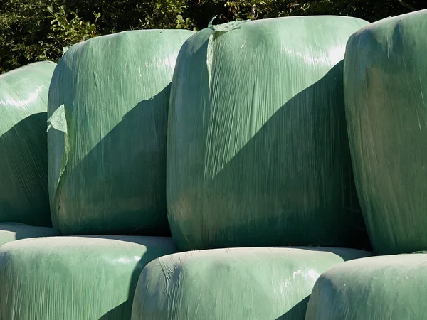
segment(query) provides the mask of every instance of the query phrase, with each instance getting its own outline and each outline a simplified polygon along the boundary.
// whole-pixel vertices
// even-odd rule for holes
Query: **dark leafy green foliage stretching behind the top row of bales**
[[[255,4],[255,10],[253,5]],[[205,28],[248,19],[333,14],[377,21],[426,9],[426,0],[1,0],[0,73],[94,36],[144,28]]]

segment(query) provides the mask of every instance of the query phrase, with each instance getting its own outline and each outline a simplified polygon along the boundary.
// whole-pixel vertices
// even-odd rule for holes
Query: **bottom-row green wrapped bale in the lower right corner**
[[[305,320],[424,320],[427,255],[369,257],[320,276]]]

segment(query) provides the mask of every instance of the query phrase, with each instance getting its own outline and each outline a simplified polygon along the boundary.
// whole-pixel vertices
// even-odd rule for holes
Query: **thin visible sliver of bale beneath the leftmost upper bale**
[[[56,230],[48,227],[35,227],[22,223],[0,223],[0,245],[7,242],[26,239],[41,238],[57,235]]]

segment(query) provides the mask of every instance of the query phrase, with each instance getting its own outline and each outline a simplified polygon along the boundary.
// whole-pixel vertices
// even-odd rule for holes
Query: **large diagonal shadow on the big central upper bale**
[[[184,199],[191,205],[176,204],[181,207],[172,210],[193,211],[187,220],[169,214],[180,250],[275,245],[369,250],[349,153],[343,65],[342,60],[280,107],[215,175],[209,172],[211,178],[178,183],[181,191],[172,203]],[[214,126],[216,135],[221,129]],[[217,153],[201,150],[199,159],[190,160],[197,172],[204,172],[214,168],[211,162],[218,157],[205,155]],[[260,211],[265,213],[261,220]],[[194,228],[206,220],[209,228]]]

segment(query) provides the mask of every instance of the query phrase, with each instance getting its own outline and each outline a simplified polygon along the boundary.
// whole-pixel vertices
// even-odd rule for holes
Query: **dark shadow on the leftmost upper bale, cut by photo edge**
[[[52,225],[46,117],[31,114],[0,136],[0,222]]]

